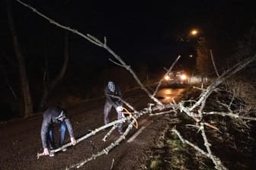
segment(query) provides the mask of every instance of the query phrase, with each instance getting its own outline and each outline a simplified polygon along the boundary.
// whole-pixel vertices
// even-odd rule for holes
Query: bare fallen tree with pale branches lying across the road
[[[95,46],[99,46],[99,47],[107,50],[107,52],[109,52],[110,55],[112,55],[116,59],[116,61],[113,61],[113,60],[110,60],[110,61],[114,62],[116,65],[120,65],[120,67],[123,67],[127,71],[129,71],[130,74],[133,75],[136,82],[139,84],[139,87],[141,87],[141,89],[144,90],[146,92],[146,94],[149,96],[149,98],[151,98],[153,101],[153,103],[149,103],[149,105],[147,105],[144,109],[137,111],[136,109],[133,108],[132,105],[130,105],[130,103],[128,103],[122,99],[123,102],[125,103],[126,107],[131,110],[130,112],[132,112],[132,114],[130,114],[128,117],[125,117],[119,121],[113,121],[113,122],[110,122],[109,124],[106,124],[106,125],[100,127],[100,128],[94,129],[94,131],[91,131],[91,133],[85,134],[84,137],[79,138],[78,143],[81,142],[82,140],[88,139],[88,137],[91,137],[92,135],[97,134],[99,131],[102,131],[105,128],[112,127],[110,129],[110,131],[104,137],[103,140],[105,141],[107,139],[107,137],[112,133],[112,131],[114,131],[114,129],[117,128],[117,123],[120,123],[120,121],[123,121],[123,122],[128,121],[129,125],[126,128],[126,130],[124,131],[124,133],[122,135],[120,135],[120,137],[116,141],[111,143],[109,146],[105,147],[104,150],[101,150],[100,152],[93,154],[89,158],[84,158],[80,162],[74,163],[73,165],[69,165],[68,167],[66,167],[66,169],[80,168],[83,165],[85,165],[85,163],[90,162],[91,160],[97,159],[98,156],[102,156],[104,154],[109,153],[110,150],[114,150],[114,148],[117,145],[120,145],[121,141],[125,139],[126,135],[135,126],[137,118],[139,118],[143,115],[146,115],[146,114],[150,114],[150,115],[171,114],[174,112],[176,113],[178,111],[188,115],[189,118],[191,118],[191,120],[194,121],[194,124],[192,124],[192,125],[198,129],[198,132],[200,132],[205,148],[200,148],[200,146],[197,146],[196,144],[191,143],[189,140],[184,139],[184,137],[181,135],[181,133],[179,131],[177,131],[175,128],[173,128],[171,131],[173,131],[175,134],[178,135],[178,137],[182,141],[182,143],[186,143],[187,145],[194,147],[194,149],[197,150],[200,154],[208,157],[213,162],[216,169],[228,169],[226,167],[226,165],[224,165],[222,163],[222,160],[219,159],[219,157],[216,156],[215,153],[213,153],[213,151],[211,149],[212,145],[209,142],[206,131],[205,131],[206,127],[213,128],[217,131],[219,131],[219,129],[218,129],[218,127],[214,126],[213,124],[210,124],[210,122],[207,122],[204,119],[205,116],[206,115],[207,116],[222,115],[222,116],[228,116],[231,118],[235,118],[238,121],[245,121],[245,120],[256,121],[256,118],[251,117],[250,115],[236,114],[234,111],[232,111],[232,109],[229,107],[229,105],[227,105],[228,112],[226,112],[226,111],[225,112],[216,112],[215,110],[205,111],[205,105],[206,105],[207,99],[214,92],[216,92],[218,90],[218,87],[220,84],[222,84],[223,82],[228,80],[229,77],[231,77],[233,74],[236,74],[238,71],[241,71],[243,68],[245,68],[247,65],[249,65],[252,61],[254,61],[256,59],[256,55],[245,58],[243,61],[239,62],[238,64],[234,65],[232,68],[229,68],[228,70],[226,70],[225,72],[220,74],[219,77],[216,78],[216,80],[213,80],[213,82],[208,87],[206,87],[206,89],[200,88],[200,90],[202,90],[202,92],[200,93],[200,96],[198,99],[186,100],[186,101],[181,101],[178,103],[173,101],[173,102],[164,104],[155,97],[155,94],[157,93],[159,87],[162,84],[162,80],[159,80],[158,86],[152,93],[148,88],[146,88],[142,84],[142,82],[139,80],[139,78],[137,77],[137,75],[133,71],[133,69],[130,67],[130,65],[126,64],[126,62],[123,61],[123,59],[119,55],[117,55],[112,49],[110,49],[109,46],[107,46],[107,38],[106,37],[104,38],[104,42],[101,42],[101,40],[97,39],[94,36],[91,36],[90,34],[85,35],[85,34],[79,32],[78,30],[75,30],[70,27],[66,27],[62,24],[59,24],[58,22],[50,19],[49,17],[46,17],[46,15],[41,14],[39,11],[37,11],[37,9],[31,7],[30,5],[25,4],[24,2],[21,2],[20,0],[16,0],[16,2],[19,2],[21,5],[24,5],[24,7],[29,8],[30,10],[34,11],[36,14],[40,15],[40,17],[43,17],[44,19],[50,21],[50,24],[55,24],[57,27],[60,27],[64,30],[68,30],[72,33],[75,33],[78,36],[81,36],[82,38],[87,39],[89,42],[93,43]],[[178,56],[176,61],[174,61],[174,63],[168,69],[166,74],[168,74],[168,72],[171,71],[171,69],[173,68],[173,66],[178,61],[179,58],[180,58],[180,56]],[[187,103],[190,103],[190,104],[187,105]],[[226,103],[219,103],[219,105],[226,105]],[[62,146],[61,148],[54,150],[54,152],[59,152],[59,150],[62,150],[63,148],[68,147],[68,146],[71,146],[71,143],[67,143],[66,145]],[[40,153],[37,154],[37,158],[39,158],[40,156],[43,156],[43,154],[40,154]]]

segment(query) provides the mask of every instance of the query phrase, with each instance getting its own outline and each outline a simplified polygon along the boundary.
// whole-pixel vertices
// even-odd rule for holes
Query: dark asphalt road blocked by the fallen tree
[[[158,93],[159,99],[167,99],[182,95],[182,89],[163,89]],[[142,90],[135,90],[124,94],[124,99],[130,102],[136,110],[147,107],[152,99]],[[104,125],[104,99],[94,99],[74,108],[68,109],[68,115],[72,118],[75,137],[82,137],[90,130]],[[110,112],[110,120],[117,118],[114,109]],[[37,159],[37,153],[43,152],[40,141],[40,128],[43,118],[38,114],[33,118],[21,119],[0,124],[0,169],[65,169],[82,160],[90,158],[114,143],[120,134],[114,131],[107,141],[102,139],[108,131],[100,131],[92,137],[83,140],[76,146],[70,146],[63,153],[57,153],[54,157],[42,156]],[[83,165],[80,169],[139,169],[146,158],[146,150],[152,145],[161,131],[165,128],[165,115],[143,115],[138,119],[139,128],[133,128],[119,145],[97,159]],[[127,124],[123,124],[127,128]],[[110,129],[107,129],[110,130]],[[56,131],[56,138],[59,131]],[[56,139],[56,141],[58,141]],[[66,135],[69,142],[69,135]]]

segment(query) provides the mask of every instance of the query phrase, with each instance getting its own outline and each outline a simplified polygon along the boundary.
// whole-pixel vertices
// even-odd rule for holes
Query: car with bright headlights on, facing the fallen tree
[[[170,71],[164,77],[165,85],[187,84],[188,75],[185,71]]]

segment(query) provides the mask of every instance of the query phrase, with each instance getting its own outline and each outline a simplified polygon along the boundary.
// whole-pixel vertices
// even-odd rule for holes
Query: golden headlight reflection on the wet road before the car
[[[163,88],[156,93],[156,97],[161,102],[172,102],[184,93],[184,88]]]

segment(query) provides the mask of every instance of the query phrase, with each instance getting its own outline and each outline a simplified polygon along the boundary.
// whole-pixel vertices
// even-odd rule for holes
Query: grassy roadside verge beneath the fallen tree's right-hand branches
[[[192,99],[197,96],[187,97]],[[230,101],[229,97],[227,94],[216,93],[207,100],[205,109],[224,111],[226,108],[216,105],[216,101],[227,102]],[[236,105],[243,101],[236,99],[233,103]],[[171,132],[172,128],[176,128],[186,140],[205,150],[200,132],[197,132],[196,128],[187,126],[187,124],[195,123],[188,115],[184,113],[178,113],[175,117],[166,115],[165,119],[166,124],[163,124],[165,127],[155,140],[155,145],[149,148],[146,165],[142,169],[216,169],[210,159],[202,156],[191,146],[182,143],[178,136]],[[206,115],[204,120],[219,128],[220,131],[206,128],[206,135],[211,143],[213,154],[218,156],[229,169],[253,169],[256,159],[254,153],[256,148],[255,122],[245,124],[243,121],[219,115]]]

